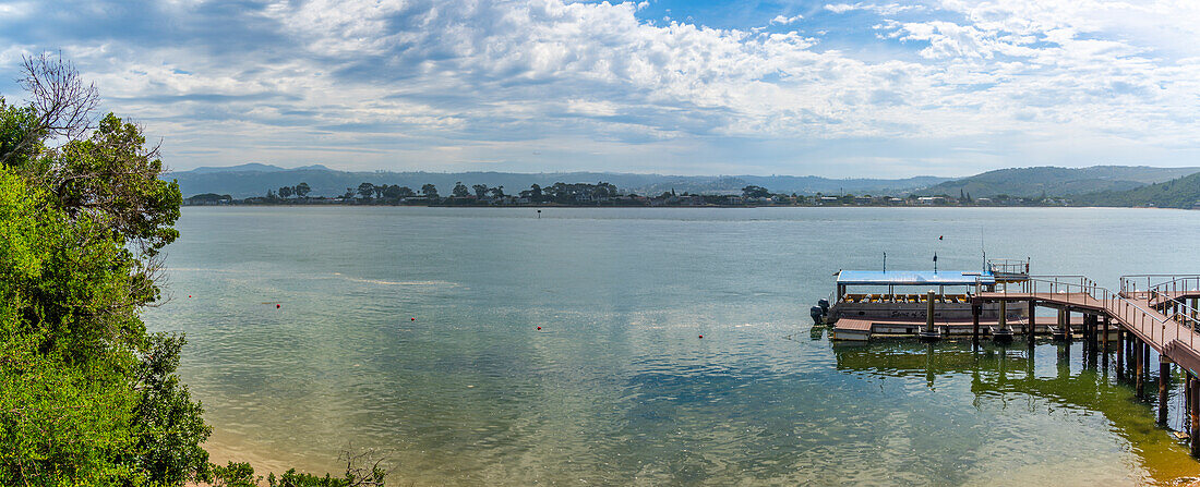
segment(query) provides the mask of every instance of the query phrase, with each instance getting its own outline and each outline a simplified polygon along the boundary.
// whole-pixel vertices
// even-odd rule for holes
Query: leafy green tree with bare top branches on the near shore
[[[28,59],[23,82],[34,101],[0,102],[0,485],[182,485],[209,427],[175,375],[182,338],[138,317],[179,187],[137,126],[78,137],[95,92],[68,64]]]

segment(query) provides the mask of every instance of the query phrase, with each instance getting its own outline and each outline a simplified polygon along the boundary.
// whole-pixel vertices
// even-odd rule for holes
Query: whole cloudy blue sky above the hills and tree
[[[0,0],[173,169],[1200,166],[1200,2]]]

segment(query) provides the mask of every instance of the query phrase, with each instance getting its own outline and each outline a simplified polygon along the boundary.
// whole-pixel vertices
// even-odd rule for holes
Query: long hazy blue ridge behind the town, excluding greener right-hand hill
[[[362,182],[372,185],[398,185],[420,190],[432,184],[443,194],[449,194],[455,182],[467,186],[504,186],[509,193],[528,190],[530,185],[550,186],[556,182],[610,182],[624,191],[638,194],[677,193],[740,193],[743,187],[754,185],[780,193],[907,193],[929,187],[948,178],[918,176],[907,179],[829,179],[817,176],[671,176],[632,173],[425,173],[425,172],[344,172],[324,166],[306,166],[286,169],[268,164],[241,164],[227,168],[196,168],[168,173],[163,179],[179,181],[184,197],[202,193],[229,194],[234,198],[257,197],[268,190],[307,182],[312,196],[340,196],[347,188],[358,188]]]

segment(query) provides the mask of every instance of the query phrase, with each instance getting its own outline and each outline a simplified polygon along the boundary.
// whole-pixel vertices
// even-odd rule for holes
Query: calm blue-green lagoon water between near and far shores
[[[353,443],[390,450],[394,477],[418,485],[1112,485],[1200,473],[1156,427],[1152,402],[1085,368],[1078,342],[1068,360],[1050,342],[1032,355],[833,345],[808,311],[833,272],[878,269],[882,252],[889,269],[929,269],[935,251],[941,269],[979,269],[982,236],[989,255],[1111,287],[1122,273],[1200,271],[1200,214],[535,216],[188,208],[169,247],[173,299],[148,323],[187,333],[181,373],[216,428],[214,451],[268,467],[336,469]]]

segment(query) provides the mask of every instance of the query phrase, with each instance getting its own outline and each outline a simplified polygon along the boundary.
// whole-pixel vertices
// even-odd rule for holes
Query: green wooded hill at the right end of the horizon
[[[918,196],[971,193],[972,198],[998,194],[1031,198],[1068,197],[1100,191],[1120,192],[1163,182],[1200,168],[1152,168],[1147,166],[1093,166],[1090,168],[1033,167],[990,170],[916,191]]]

